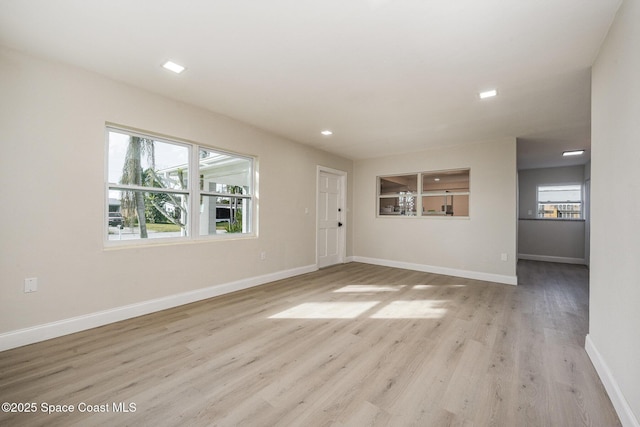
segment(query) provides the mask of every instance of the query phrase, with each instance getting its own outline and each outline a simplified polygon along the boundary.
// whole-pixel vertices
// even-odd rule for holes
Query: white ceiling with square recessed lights
[[[560,153],[620,3],[0,0],[0,44],[353,159],[517,137],[529,168],[588,158]]]

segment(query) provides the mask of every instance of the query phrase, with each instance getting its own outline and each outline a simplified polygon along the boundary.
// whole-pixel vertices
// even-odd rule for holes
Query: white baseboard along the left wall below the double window
[[[103,326],[109,323],[131,319],[133,317],[138,317],[145,314],[154,313],[156,311],[166,310],[168,308],[173,308],[207,298],[240,291],[242,289],[252,288],[254,286],[263,285],[265,283],[273,282],[276,280],[282,280],[289,277],[298,276],[300,274],[311,273],[313,271],[316,271],[317,269],[318,268],[316,265],[307,265],[291,270],[278,271],[262,276],[250,277],[248,279],[242,279],[235,282],[224,283],[221,285],[210,286],[194,291],[169,295],[163,298],[142,301],[139,303],[116,307],[109,310],[71,317],[56,322],[33,326],[30,328],[5,332],[3,334],[0,334],[0,351],[21,347],[23,345],[33,344],[39,341],[45,341],[51,338],[56,338],[91,328],[96,328],[98,326]]]

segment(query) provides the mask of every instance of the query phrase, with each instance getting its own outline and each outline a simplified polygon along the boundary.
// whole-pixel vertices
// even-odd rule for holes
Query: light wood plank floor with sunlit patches
[[[0,425],[619,425],[583,349],[587,269],[518,268],[351,263],[5,351],[0,400],[38,412]]]

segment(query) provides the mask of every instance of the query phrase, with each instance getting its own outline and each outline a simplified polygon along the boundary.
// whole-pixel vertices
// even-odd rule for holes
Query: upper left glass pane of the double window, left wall
[[[152,138],[109,131],[109,182],[187,189],[189,148]]]

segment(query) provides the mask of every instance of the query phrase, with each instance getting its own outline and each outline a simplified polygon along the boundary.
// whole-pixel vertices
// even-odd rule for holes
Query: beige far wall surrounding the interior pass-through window
[[[464,168],[471,168],[470,218],[376,215],[377,176]],[[358,257],[515,278],[515,139],[358,160],[354,178]]]

